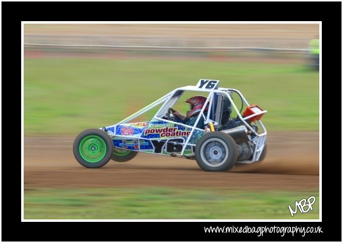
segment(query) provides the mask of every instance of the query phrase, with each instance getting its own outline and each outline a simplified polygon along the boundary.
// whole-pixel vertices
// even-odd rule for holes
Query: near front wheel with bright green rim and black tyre
[[[111,159],[112,140],[103,130],[88,129],[75,138],[73,152],[81,165],[87,168],[100,168]]]

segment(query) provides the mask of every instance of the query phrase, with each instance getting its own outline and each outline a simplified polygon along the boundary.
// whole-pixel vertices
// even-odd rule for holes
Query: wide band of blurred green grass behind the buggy
[[[319,74],[300,64],[25,59],[24,133],[78,134],[111,125],[200,78],[221,80],[221,87],[238,89],[268,110],[268,130],[319,129]]]

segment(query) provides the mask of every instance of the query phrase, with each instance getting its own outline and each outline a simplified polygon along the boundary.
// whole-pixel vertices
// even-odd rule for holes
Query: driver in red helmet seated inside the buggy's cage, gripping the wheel
[[[206,99],[207,97],[205,96],[197,95],[197,96],[193,96],[185,100],[185,102],[189,103],[189,109],[190,109],[190,111],[187,111],[187,116],[181,114],[177,110],[174,110],[173,112],[171,112],[171,114],[181,119],[183,124],[193,126],[195,122],[197,121],[197,118],[201,110],[204,107]],[[204,110],[205,116],[207,116],[207,111],[208,111],[208,103]],[[204,117],[201,116],[196,127],[204,129],[205,128],[204,122],[205,122]]]

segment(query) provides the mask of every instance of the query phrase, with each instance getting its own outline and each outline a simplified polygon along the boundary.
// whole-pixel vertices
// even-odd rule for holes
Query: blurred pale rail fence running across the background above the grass
[[[24,34],[25,47],[36,48],[108,48],[118,50],[164,50],[207,52],[277,52],[304,53],[309,51],[307,38],[292,37],[159,37],[136,35],[51,35]]]

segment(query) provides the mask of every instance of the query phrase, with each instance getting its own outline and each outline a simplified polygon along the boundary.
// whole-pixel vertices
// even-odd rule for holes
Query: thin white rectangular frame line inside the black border
[[[24,24],[319,24],[319,219],[24,219]],[[21,22],[21,221],[22,222],[321,222],[322,221],[322,38],[321,21],[22,21]],[[1,41],[1,40],[0,40]],[[1,68],[1,67],[0,67]],[[0,69],[1,70],[1,69]],[[343,70],[343,69],[342,69]],[[1,88],[0,88],[1,89]],[[0,101],[1,103],[1,101]],[[1,109],[1,108],[0,108]],[[0,114],[1,120],[1,114]],[[343,121],[343,120],[342,120]],[[0,131],[1,134],[1,131]],[[343,134],[343,131],[342,131]],[[1,145],[1,142],[0,142]],[[343,145],[342,145],[343,148]],[[1,153],[1,146],[0,146]],[[342,149],[343,153],[343,149]],[[342,168],[343,171],[343,168]],[[301,198],[299,198],[300,200]],[[1,198],[0,198],[1,200]],[[285,205],[287,207],[287,205]]]

